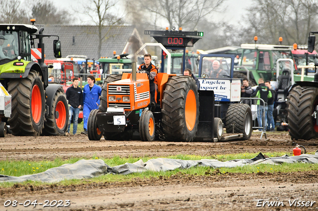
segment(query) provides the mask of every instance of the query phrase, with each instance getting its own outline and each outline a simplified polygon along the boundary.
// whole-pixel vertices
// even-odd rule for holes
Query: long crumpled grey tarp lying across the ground
[[[150,159],[147,162],[138,160],[134,163],[125,163],[109,167],[101,159],[84,160],[81,159],[73,164],[64,164],[59,167],[50,168],[44,172],[32,175],[23,175],[19,177],[6,176],[0,174],[0,182],[23,182],[27,180],[38,180],[42,182],[59,182],[64,179],[88,179],[97,177],[107,173],[113,174],[130,174],[143,171],[167,171],[177,168],[184,169],[194,166],[209,166],[213,168],[220,167],[236,167],[242,165],[255,165],[260,163],[266,164],[281,164],[281,163],[318,163],[318,152],[315,155],[304,154],[301,156],[282,156],[274,158],[265,158],[261,153],[252,159],[235,159],[221,162],[216,159],[201,159],[201,160],[181,160],[169,158],[156,158]]]

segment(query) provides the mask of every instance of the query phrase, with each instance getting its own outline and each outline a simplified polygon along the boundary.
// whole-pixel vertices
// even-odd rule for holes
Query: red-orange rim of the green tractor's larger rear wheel
[[[31,96],[32,117],[35,123],[39,123],[42,116],[42,98],[38,85],[34,85]]]

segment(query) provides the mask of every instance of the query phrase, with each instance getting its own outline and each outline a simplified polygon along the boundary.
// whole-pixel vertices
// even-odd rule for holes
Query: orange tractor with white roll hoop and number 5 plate
[[[184,35],[181,38],[189,39]],[[190,40],[193,42],[193,39]],[[199,123],[199,95],[194,79],[189,76],[169,74],[171,54],[161,43],[145,44],[135,53],[135,57],[149,45],[159,46],[168,56],[167,73],[161,72],[157,75],[159,93],[157,106],[150,105],[148,75],[143,71],[137,73],[136,62],[133,62],[132,73],[112,74],[106,78],[99,109],[92,110],[88,117],[89,140],[100,140],[102,135],[106,140],[129,140],[136,132],[139,133],[142,141],[160,139],[191,142],[196,137]],[[207,93],[214,102],[213,91]],[[210,131],[207,133],[207,138],[213,140],[214,113],[210,114],[212,120],[207,126]]]

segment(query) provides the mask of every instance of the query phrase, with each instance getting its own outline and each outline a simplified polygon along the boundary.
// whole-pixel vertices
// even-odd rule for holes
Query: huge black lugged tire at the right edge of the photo
[[[313,113],[318,106],[318,88],[294,87],[287,97],[287,119],[291,139],[318,138],[318,125]]]

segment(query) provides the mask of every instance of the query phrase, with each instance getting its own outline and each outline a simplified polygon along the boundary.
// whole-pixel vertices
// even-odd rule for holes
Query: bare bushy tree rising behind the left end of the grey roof
[[[32,4],[31,17],[38,24],[69,24],[72,21],[67,10],[58,10],[52,1],[37,0]]]

